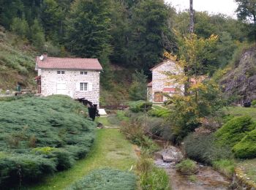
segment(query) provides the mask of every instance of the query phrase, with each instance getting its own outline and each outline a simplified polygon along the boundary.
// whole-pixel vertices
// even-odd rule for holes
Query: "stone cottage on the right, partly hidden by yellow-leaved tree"
[[[166,72],[174,72],[177,74],[182,72],[174,61],[165,60],[150,70],[152,72],[152,81],[148,83],[147,86],[148,101],[162,103],[167,100],[164,96],[165,94],[172,96],[177,93],[177,88],[181,88],[181,91],[183,91],[183,87],[178,87],[177,84],[169,80],[166,75]]]

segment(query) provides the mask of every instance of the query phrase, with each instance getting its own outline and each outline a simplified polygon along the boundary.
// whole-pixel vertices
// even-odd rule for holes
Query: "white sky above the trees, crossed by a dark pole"
[[[177,11],[189,9],[189,0],[165,0],[176,7]],[[235,10],[237,4],[234,0],[194,0],[194,9],[197,11],[208,11],[208,13],[223,13],[236,18]]]

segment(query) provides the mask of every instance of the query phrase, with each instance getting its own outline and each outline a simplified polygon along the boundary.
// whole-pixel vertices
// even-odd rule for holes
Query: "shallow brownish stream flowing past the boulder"
[[[172,148],[176,148],[171,146]],[[178,148],[176,148],[178,149]],[[180,151],[181,152],[181,151]],[[176,153],[174,153],[176,154]],[[173,190],[203,190],[203,189],[228,189],[231,180],[226,178],[221,173],[215,171],[212,167],[204,166],[203,164],[198,164],[198,172],[193,176],[193,180],[189,180],[186,175],[181,175],[181,173],[176,171],[176,162],[164,162],[162,159],[161,151],[155,153],[154,163],[157,167],[164,168],[167,174],[170,176],[170,184]]]

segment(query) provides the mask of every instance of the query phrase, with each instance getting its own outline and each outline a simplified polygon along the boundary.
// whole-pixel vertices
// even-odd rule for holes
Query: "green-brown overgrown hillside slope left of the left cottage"
[[[15,89],[17,83],[34,88],[34,56],[38,53],[27,40],[0,26],[0,88]]]

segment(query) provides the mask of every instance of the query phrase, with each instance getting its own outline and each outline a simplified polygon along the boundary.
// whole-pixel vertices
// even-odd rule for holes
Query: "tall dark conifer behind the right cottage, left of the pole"
[[[173,45],[169,16],[170,7],[162,0],[140,1],[132,9],[128,63],[148,69],[161,60],[165,44]]]

